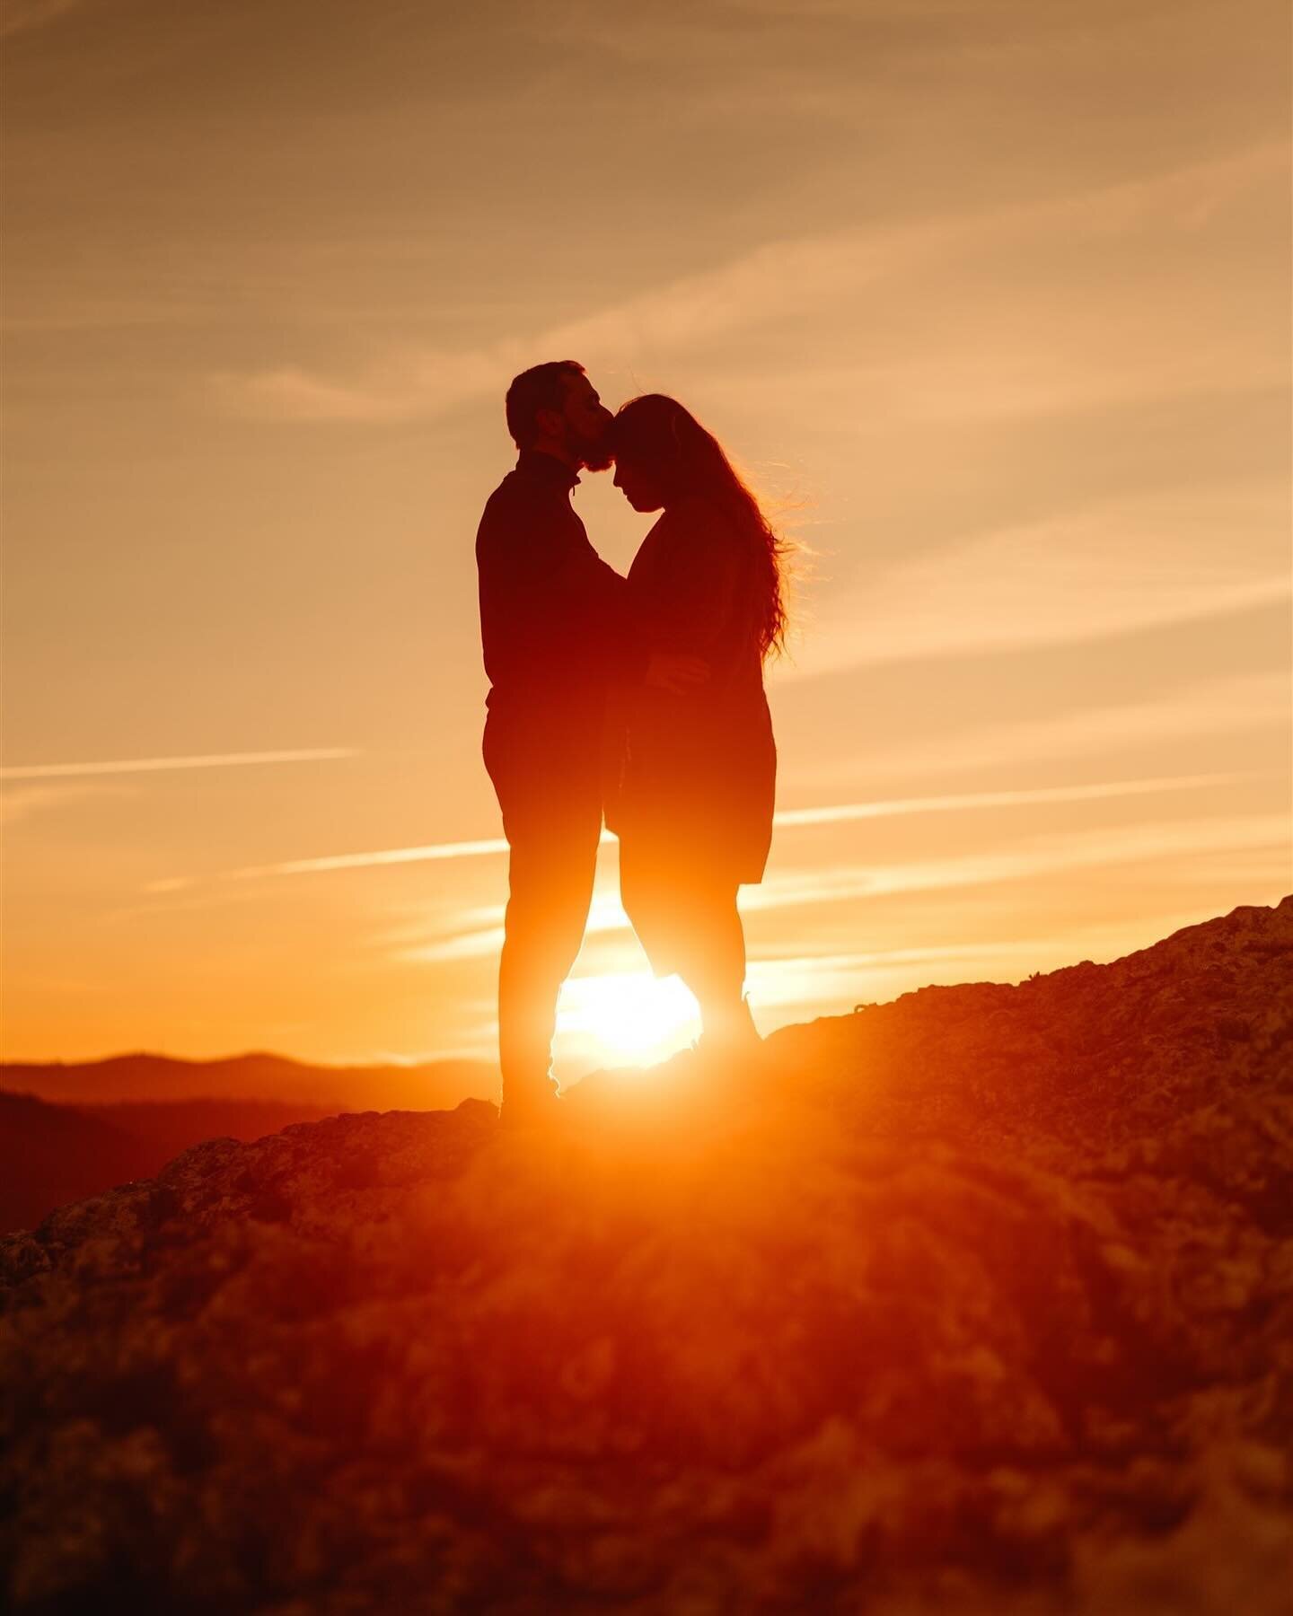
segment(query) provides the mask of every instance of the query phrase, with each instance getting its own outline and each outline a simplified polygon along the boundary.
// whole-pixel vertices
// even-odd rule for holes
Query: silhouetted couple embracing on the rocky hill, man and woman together
[[[784,543],[718,441],[674,399],[613,415],[574,360],[508,389],[516,470],[477,535],[490,679],[485,766],[509,898],[498,978],[503,1122],[541,1125],[556,1000],[583,941],[603,814],[624,910],[656,976],[695,994],[703,1047],[756,1042],[737,889],[763,879],[776,747],[763,663],[782,643]],[[659,511],[629,577],[571,504],[616,467]]]

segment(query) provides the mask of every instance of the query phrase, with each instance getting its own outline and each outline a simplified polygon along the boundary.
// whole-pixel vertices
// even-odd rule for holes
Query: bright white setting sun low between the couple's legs
[[[569,1055],[653,1065],[700,1033],[697,1002],[677,976],[650,971],[572,976],[561,989],[558,1042]]]

